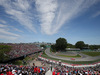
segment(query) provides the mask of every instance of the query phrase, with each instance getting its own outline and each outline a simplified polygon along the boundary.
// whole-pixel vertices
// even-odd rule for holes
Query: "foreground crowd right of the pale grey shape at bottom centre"
[[[100,65],[96,67],[55,67],[52,75],[100,75]]]

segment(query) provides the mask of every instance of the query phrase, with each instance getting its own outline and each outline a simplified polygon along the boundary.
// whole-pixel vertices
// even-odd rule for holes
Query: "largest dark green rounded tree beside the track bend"
[[[67,41],[65,38],[58,38],[56,40],[56,51],[59,50],[65,50],[65,48],[67,47]]]

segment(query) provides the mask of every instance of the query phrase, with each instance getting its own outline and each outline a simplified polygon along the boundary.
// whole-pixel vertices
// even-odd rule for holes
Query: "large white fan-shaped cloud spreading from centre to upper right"
[[[41,30],[52,35],[99,0],[35,0]]]

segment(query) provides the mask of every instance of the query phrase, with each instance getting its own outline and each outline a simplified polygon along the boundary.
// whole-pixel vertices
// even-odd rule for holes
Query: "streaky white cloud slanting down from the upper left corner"
[[[30,0],[31,1],[31,0]],[[36,33],[33,15],[31,11],[31,2],[28,0],[0,0],[0,5],[5,8],[5,12],[11,16],[12,19],[19,22],[26,29]]]

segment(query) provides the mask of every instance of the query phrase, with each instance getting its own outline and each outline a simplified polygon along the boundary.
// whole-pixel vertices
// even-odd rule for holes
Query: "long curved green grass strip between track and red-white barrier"
[[[49,57],[48,55],[45,54],[45,52],[43,52],[43,54],[41,56],[45,57],[47,59],[51,59],[51,60],[56,60],[56,61],[61,60],[61,59]],[[95,62],[99,62],[100,59],[94,60],[94,61],[68,61],[68,60],[61,60],[61,61],[64,62],[64,63],[70,63],[70,64],[92,64],[92,63],[95,63]]]

